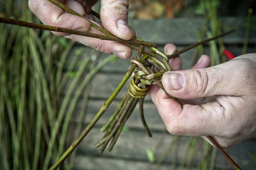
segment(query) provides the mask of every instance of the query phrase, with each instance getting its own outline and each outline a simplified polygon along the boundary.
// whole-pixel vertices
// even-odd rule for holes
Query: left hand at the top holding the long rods
[[[91,7],[97,1],[98,0],[60,0],[60,2],[67,5],[72,10],[92,21],[95,21],[95,19],[93,15],[90,14]],[[49,0],[29,0],[29,8],[46,25],[102,34],[91,27],[90,23],[85,19],[65,12]],[[128,25],[127,15],[128,0],[101,0],[101,22],[97,23],[113,35],[125,40],[130,40],[135,37],[135,31]],[[115,54],[120,58],[130,58],[132,54],[132,49],[120,42],[99,40],[73,34],[68,35],[60,32],[54,33],[81,42],[82,44],[93,47],[103,53]]]

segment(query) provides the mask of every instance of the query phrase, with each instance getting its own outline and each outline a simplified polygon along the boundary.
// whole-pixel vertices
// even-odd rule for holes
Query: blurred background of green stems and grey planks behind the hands
[[[98,2],[93,10],[99,9]],[[40,23],[25,0],[0,1],[0,16]],[[160,50],[166,43],[182,49],[235,29],[181,54],[184,69],[202,54],[216,65],[255,53],[255,22],[254,0],[129,1],[129,24]],[[48,169],[115,90],[130,59],[99,53],[49,31],[3,23],[0,37],[0,169]],[[136,107],[112,152],[101,155],[94,147],[104,135],[100,128],[127,89],[128,83],[60,169],[234,169],[200,137],[169,134],[148,96],[144,114],[153,137],[147,136]],[[226,151],[242,169],[254,170],[255,148],[251,138]]]

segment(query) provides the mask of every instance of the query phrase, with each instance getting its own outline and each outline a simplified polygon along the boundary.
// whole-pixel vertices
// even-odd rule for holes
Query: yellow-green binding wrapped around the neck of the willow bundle
[[[129,85],[129,94],[133,98],[145,98],[147,96],[147,90],[148,88],[140,88],[135,83],[135,76],[131,79],[130,85]]]

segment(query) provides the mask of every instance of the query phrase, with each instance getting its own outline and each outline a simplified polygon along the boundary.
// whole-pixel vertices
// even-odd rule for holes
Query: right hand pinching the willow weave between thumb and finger
[[[168,44],[166,48],[167,54],[176,50]],[[181,69],[181,61],[173,64]],[[202,136],[208,142],[205,136],[214,136],[228,148],[256,134],[256,54],[205,68],[209,64],[204,55],[193,69],[163,75],[164,89],[181,99],[183,107],[155,86],[149,94],[170,133]]]

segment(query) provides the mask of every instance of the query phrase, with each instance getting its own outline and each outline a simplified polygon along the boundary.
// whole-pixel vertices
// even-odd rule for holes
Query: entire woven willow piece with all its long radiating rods
[[[43,29],[43,30],[49,30],[49,31],[55,31],[55,32],[64,32],[64,33],[70,33],[70,34],[76,34],[76,35],[82,35],[86,37],[93,37],[98,38],[101,40],[109,40],[109,41],[118,41],[121,42],[128,47],[131,47],[133,50],[138,51],[138,54],[136,58],[131,59],[131,67],[129,68],[128,72],[126,73],[125,77],[121,81],[121,83],[118,85],[118,87],[115,89],[115,91],[112,93],[112,95],[109,97],[109,99],[106,101],[106,103],[99,109],[99,112],[96,114],[96,116],[93,118],[93,120],[88,124],[88,126],[84,129],[84,131],[80,134],[80,136],[72,143],[72,145],[62,154],[62,156],[57,160],[55,164],[51,166],[51,170],[57,169],[60,164],[72,153],[72,151],[77,147],[77,145],[83,140],[83,138],[87,135],[87,133],[93,128],[95,123],[99,120],[99,118],[102,116],[102,114],[107,110],[109,105],[112,103],[116,95],[120,92],[121,88],[124,86],[125,82],[131,77],[132,73],[134,72],[135,75],[132,77],[128,92],[125,94],[125,96],[122,98],[120,103],[118,104],[115,112],[112,114],[112,116],[109,118],[107,123],[103,125],[101,128],[101,131],[106,131],[104,137],[101,141],[99,141],[95,146],[99,147],[102,146],[100,149],[100,153],[103,153],[106,146],[109,144],[108,152],[110,152],[115,145],[120,132],[125,125],[126,120],[129,118],[131,113],[133,112],[136,104],[139,101],[139,112],[141,121],[143,124],[143,127],[145,128],[148,136],[152,136],[148,127],[147,123],[145,122],[144,115],[143,115],[143,100],[145,96],[147,95],[148,85],[150,84],[157,84],[161,89],[164,90],[163,85],[161,83],[161,78],[163,73],[166,71],[172,71],[172,68],[168,64],[169,59],[178,56],[181,53],[184,53],[196,46],[208,43],[212,40],[215,40],[217,38],[223,37],[234,30],[231,30],[229,32],[226,32],[224,34],[221,34],[219,36],[206,39],[201,42],[196,42],[195,44],[192,44],[188,47],[185,47],[181,50],[179,50],[176,53],[173,53],[171,55],[165,55],[163,52],[159,51],[157,49],[157,46],[151,42],[145,42],[141,40],[140,38],[136,37],[132,40],[123,40],[118,37],[115,37],[110,32],[106,31],[102,27],[100,27],[97,23],[87,19],[86,17],[78,14],[77,12],[73,11],[72,9],[65,6],[63,3],[59,2],[58,0],[50,0],[51,2],[55,3],[57,6],[65,10],[66,12],[72,13],[74,15],[83,17],[88,22],[91,23],[91,26],[100,32],[102,32],[105,35],[90,33],[90,32],[82,32],[62,27],[55,27],[55,26],[49,26],[49,25],[43,25],[43,24],[35,24],[35,23],[29,23],[24,21],[18,21],[9,19],[6,17],[0,17],[0,22],[13,24],[13,25],[19,25],[29,28],[37,28],[37,29]],[[99,18],[99,14],[96,12],[92,12],[92,14],[95,17]],[[136,45],[140,45],[139,47]],[[144,49],[144,47],[147,47],[149,50]],[[160,61],[158,56],[162,57],[162,60]],[[165,91],[165,90],[164,90]],[[168,93],[167,93],[168,94]],[[179,102],[177,98],[174,98],[173,96],[169,95],[170,98],[178,102],[181,107],[183,106],[182,103]],[[224,155],[225,158],[236,168],[237,170],[241,170],[241,168],[235,163],[232,158],[221,148],[221,146],[216,142],[215,138],[212,136],[206,136],[211,143]]]

